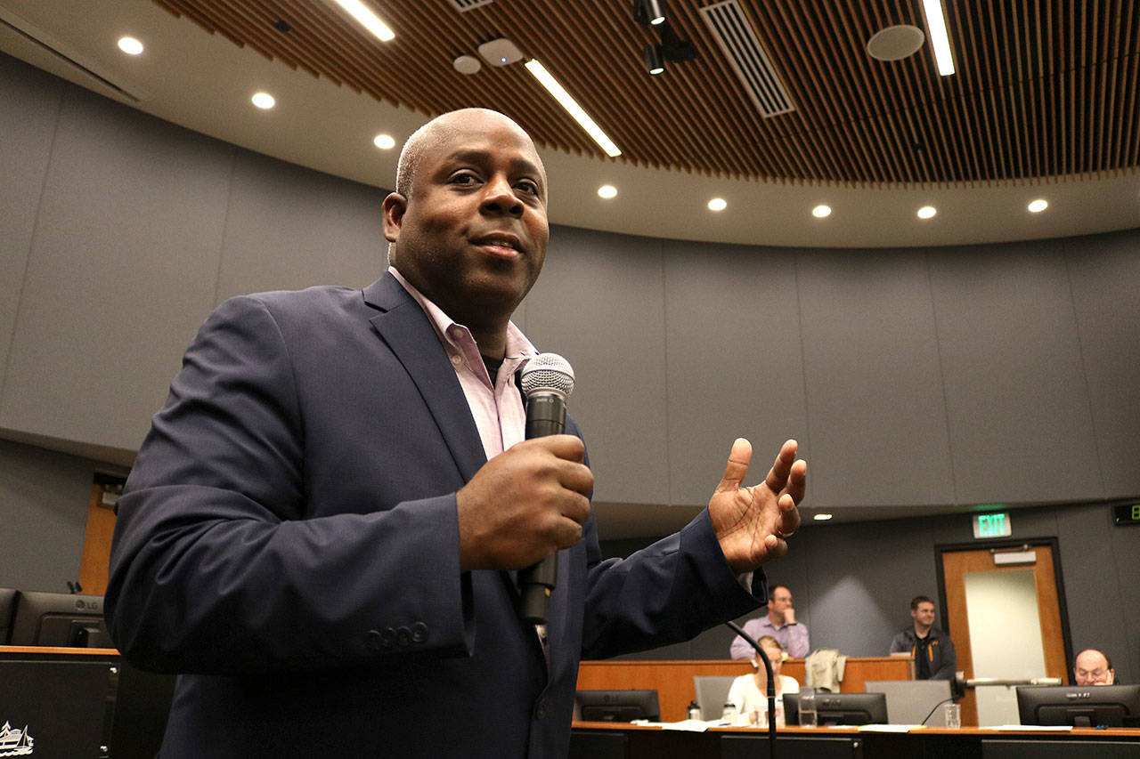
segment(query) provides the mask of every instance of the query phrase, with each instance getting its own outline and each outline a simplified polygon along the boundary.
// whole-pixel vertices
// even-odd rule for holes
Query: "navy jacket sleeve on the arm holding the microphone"
[[[455,493],[378,504],[345,488],[339,513],[312,514],[301,405],[266,302],[219,307],[119,501],[106,610],[135,662],[233,674],[470,652]],[[388,645],[400,628],[423,639]]]

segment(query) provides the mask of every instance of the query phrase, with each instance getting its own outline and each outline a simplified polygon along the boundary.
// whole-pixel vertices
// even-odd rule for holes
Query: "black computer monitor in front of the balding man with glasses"
[[[1017,713],[1023,725],[1123,727],[1140,717],[1140,685],[1020,685]]]

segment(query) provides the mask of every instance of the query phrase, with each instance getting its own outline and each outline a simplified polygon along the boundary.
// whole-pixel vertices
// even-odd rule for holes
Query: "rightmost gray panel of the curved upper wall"
[[[1140,238],[1077,237],[1064,247],[1106,495],[1140,495]]]

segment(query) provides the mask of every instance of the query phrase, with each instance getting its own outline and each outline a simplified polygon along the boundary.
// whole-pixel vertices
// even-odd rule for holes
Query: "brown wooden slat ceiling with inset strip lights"
[[[657,34],[629,0],[365,0],[383,43],[327,0],[154,0],[286,66],[437,115],[502,111],[537,142],[604,154],[521,64],[471,76],[451,60],[505,36],[538,58],[618,144],[618,161],[736,179],[955,183],[1104,177],[1140,165],[1140,9],[1134,0],[943,0],[958,73],[929,46],[871,58],[894,24],[925,31],[920,0],[740,0],[797,109],[764,119],[699,8],[668,19],[697,58],[649,76]],[[291,31],[275,28],[284,21]],[[197,30],[187,33],[199,33]]]

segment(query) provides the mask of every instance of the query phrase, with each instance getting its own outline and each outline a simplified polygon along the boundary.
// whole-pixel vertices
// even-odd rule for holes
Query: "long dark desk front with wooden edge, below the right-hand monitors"
[[[705,733],[613,723],[575,723],[570,759],[767,759],[767,732],[714,727]],[[1032,732],[963,727],[910,733],[781,728],[780,759],[1134,759],[1140,729]]]

